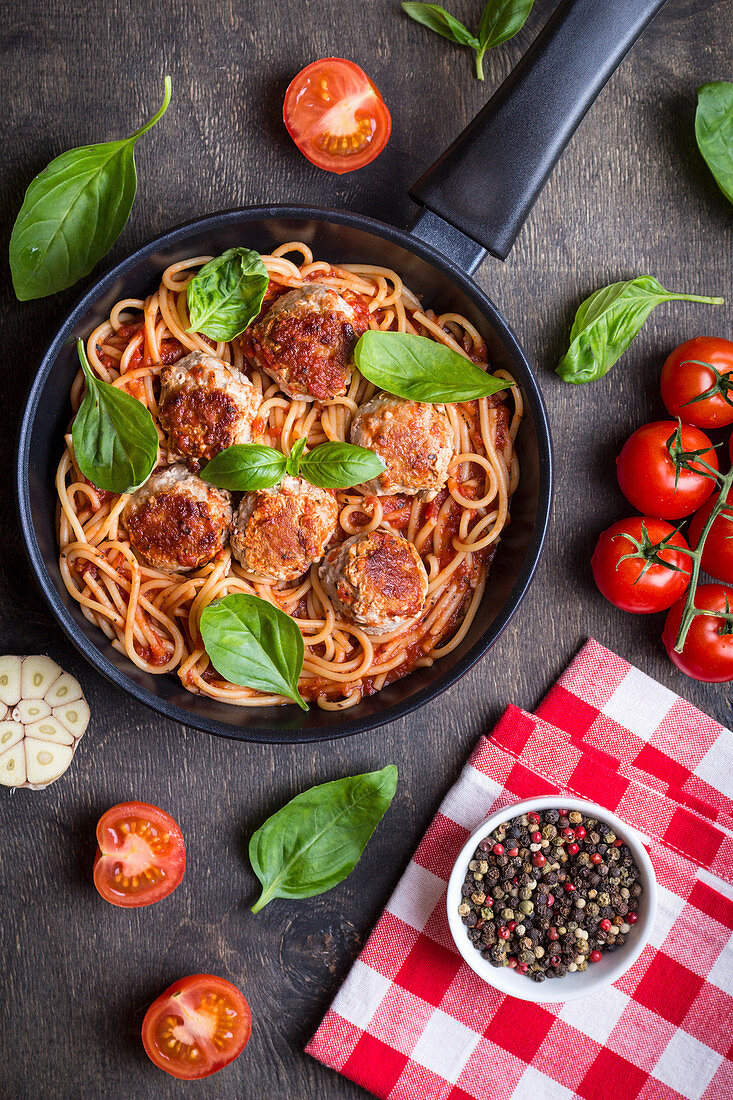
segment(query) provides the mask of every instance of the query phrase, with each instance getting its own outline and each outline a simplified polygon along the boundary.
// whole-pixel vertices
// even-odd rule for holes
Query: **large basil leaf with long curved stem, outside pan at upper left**
[[[135,144],[165,114],[123,141],[62,153],[32,180],[10,238],[13,288],[21,301],[44,298],[88,275],[130,217],[138,188]]]

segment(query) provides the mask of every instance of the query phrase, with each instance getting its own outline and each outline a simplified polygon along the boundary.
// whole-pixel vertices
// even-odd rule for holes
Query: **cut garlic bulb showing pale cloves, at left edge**
[[[0,784],[53,783],[88,725],[78,680],[50,657],[0,657]]]

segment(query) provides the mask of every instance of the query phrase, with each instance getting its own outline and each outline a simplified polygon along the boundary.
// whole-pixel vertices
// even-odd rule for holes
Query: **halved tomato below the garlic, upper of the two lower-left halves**
[[[186,870],[178,825],[146,802],[121,802],[102,814],[97,844],[95,886],[112,905],[152,905],[173,893]]]

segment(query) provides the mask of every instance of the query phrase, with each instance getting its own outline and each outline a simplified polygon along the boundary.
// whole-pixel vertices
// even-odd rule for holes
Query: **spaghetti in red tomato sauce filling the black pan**
[[[186,287],[210,258],[172,264],[154,294],[144,300],[118,301],[87,341],[98,376],[150,409],[158,425],[158,465],[177,460],[168,453],[160,428],[158,375],[162,365],[195,350],[243,371],[262,394],[254,422],[256,442],[288,454],[303,437],[309,448],[328,440],[347,441],[357,410],[375,392],[355,370],[342,397],[322,403],[293,399],[252,369],[240,339],[215,344],[187,331]],[[280,294],[317,280],[358,296],[369,309],[372,328],[429,337],[485,369],[485,344],[470,321],[459,314],[436,316],[424,310],[394,271],[363,264],[333,266],[314,260],[302,242],[283,244],[262,260],[270,275],[265,308]],[[435,499],[366,495],[359,488],[337,494],[337,540],[382,527],[413,542],[423,559],[429,581],[427,602],[422,614],[400,629],[375,638],[340,618],[319,581],[317,564],[294,583],[277,583],[245,574],[228,547],[193,573],[164,573],[141,562],[120,521],[128,496],[86,481],[75,463],[70,433],[56,475],[61,572],[68,592],[87,619],[138,668],[156,674],[176,672],[189,691],[238,706],[270,706],[286,700],[222,680],[201,644],[199,617],[208,604],[231,593],[269,600],[293,616],[303,632],[302,695],[325,710],[353,706],[412,669],[449,653],[477,613],[518,482],[514,438],[522,398],[511,386],[511,375],[494,373],[506,377],[506,392],[446,406],[455,455],[447,486]],[[72,387],[75,411],[83,385],[79,371]]]

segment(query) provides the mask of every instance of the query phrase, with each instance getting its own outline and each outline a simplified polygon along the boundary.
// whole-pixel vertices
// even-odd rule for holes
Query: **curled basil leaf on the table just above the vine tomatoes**
[[[621,359],[652,310],[663,301],[723,305],[723,298],[665,290],[650,275],[601,287],[576,314],[570,346],[557,366],[562,381],[579,384],[602,378]]]

